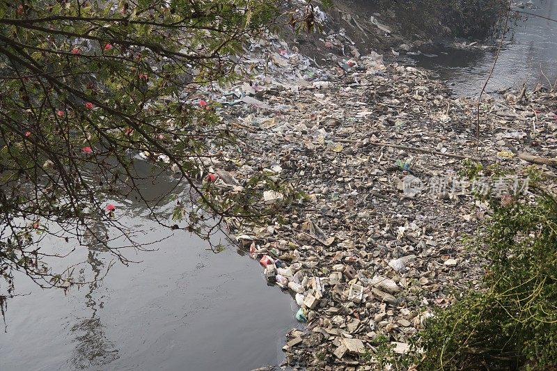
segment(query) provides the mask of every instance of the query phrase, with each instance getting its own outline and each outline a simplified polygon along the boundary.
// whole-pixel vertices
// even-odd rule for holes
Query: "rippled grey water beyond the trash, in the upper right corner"
[[[557,19],[556,0],[535,0],[534,9],[513,8],[551,19]],[[454,89],[457,95],[478,95],[494,63],[494,51],[471,51],[437,48],[427,50],[437,56],[416,56],[416,65],[434,70]],[[556,84],[557,81],[557,22],[540,17],[521,15],[512,22],[505,38],[492,78],[486,92],[524,83],[535,86]]]

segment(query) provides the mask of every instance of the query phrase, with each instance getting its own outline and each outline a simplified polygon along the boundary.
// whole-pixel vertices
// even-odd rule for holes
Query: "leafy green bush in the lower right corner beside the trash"
[[[484,288],[439,310],[420,334],[419,370],[555,370],[557,200],[492,199],[476,239],[490,265]]]

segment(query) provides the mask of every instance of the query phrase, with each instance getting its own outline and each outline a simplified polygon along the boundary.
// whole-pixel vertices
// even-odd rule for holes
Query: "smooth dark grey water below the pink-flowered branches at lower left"
[[[149,187],[164,193],[170,178]],[[127,210],[124,222],[146,232],[146,241],[168,237],[139,216],[138,205]],[[52,244],[56,251],[64,242]],[[67,294],[19,277],[17,291],[29,295],[8,302],[0,370],[245,371],[283,360],[284,334],[297,326],[297,308],[287,292],[267,287],[257,262],[234,246],[215,255],[185,232],[149,248],[159,251],[127,251],[141,262],[116,264],[103,281]],[[81,246],[54,267],[86,261],[84,274],[91,278],[110,259]]]

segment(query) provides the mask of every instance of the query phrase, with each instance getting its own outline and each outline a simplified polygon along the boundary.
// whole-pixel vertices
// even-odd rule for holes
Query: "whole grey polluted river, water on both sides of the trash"
[[[522,10],[557,18],[554,1],[533,1]],[[407,61],[439,74],[455,95],[467,96],[478,95],[495,56],[493,49],[448,47],[426,54]],[[486,91],[556,84],[556,58],[556,23],[520,19]],[[146,191],[159,192],[161,184]],[[252,370],[282,363],[285,333],[303,327],[295,319],[292,295],[267,284],[244,249],[226,242],[226,249],[214,254],[202,239],[168,234],[146,210],[127,207],[127,223],[145,232],[146,242],[155,242],[148,246],[154,251],[126,253],[137,263],[117,262],[102,281],[79,290],[41,290],[20,280],[23,295],[8,303],[6,333],[0,337],[0,369]],[[224,235],[214,238],[227,241]],[[51,243],[55,250],[61,242]],[[86,261],[93,276],[111,262],[95,246],[71,259]]]

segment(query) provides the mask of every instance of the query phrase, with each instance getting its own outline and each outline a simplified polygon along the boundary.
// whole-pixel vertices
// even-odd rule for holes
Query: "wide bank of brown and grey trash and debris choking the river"
[[[224,125],[244,142],[213,170],[223,184],[267,169],[307,197],[267,226],[230,219],[230,232],[299,305],[306,326],[287,335],[288,365],[379,368],[382,347],[407,352],[432,308],[478,282],[482,260],[462,237],[487,205],[472,191],[527,186],[469,182],[458,175],[462,159],[518,168],[528,163],[510,149],[524,151],[552,175],[557,93],[485,97],[476,150],[477,101],[451,97],[425,70],[384,65],[377,54],[320,70],[273,39],[251,56],[251,80],[204,96],[222,104]],[[283,205],[273,191],[265,201]]]

